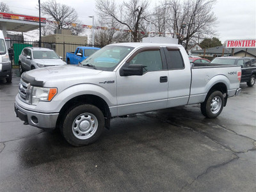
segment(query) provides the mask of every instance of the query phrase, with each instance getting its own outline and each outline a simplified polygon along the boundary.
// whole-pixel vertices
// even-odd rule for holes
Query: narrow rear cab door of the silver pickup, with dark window
[[[186,105],[189,100],[191,84],[191,67],[185,65],[184,57],[188,57],[184,49],[165,47],[168,67],[168,101],[167,107]],[[183,55],[183,56],[182,56]]]

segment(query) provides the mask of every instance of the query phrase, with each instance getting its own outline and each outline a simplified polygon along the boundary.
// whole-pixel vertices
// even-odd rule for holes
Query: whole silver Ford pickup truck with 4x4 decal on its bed
[[[107,45],[79,67],[46,67],[22,74],[15,113],[24,124],[60,128],[74,146],[99,138],[111,118],[201,104],[207,118],[220,115],[238,95],[241,67],[191,67],[181,45]]]

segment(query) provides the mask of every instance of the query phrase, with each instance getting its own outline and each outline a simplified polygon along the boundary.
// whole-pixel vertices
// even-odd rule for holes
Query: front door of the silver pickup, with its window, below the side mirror
[[[122,67],[144,65],[142,76],[116,73],[118,115],[166,108],[168,70],[163,48],[144,47],[134,52]],[[122,68],[121,68],[122,69]]]

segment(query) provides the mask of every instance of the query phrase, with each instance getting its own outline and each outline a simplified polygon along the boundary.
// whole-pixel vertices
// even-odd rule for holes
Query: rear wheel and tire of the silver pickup
[[[220,115],[224,106],[223,93],[220,91],[210,92],[205,101],[201,103],[201,112],[207,118],[216,118]]]

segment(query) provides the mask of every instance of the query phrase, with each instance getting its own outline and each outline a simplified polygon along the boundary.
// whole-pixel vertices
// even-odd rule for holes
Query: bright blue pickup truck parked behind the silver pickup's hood
[[[77,47],[76,52],[67,52],[66,62],[68,64],[78,64],[99,49],[97,47]]]

